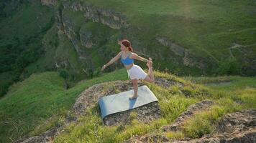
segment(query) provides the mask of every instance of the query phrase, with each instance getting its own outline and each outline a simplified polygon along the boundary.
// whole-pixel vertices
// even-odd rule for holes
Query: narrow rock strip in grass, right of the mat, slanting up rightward
[[[186,119],[191,118],[193,114],[195,114],[196,112],[200,112],[202,110],[208,109],[213,104],[214,102],[210,100],[204,100],[196,104],[193,104],[190,107],[188,107],[186,112],[183,112],[182,114],[180,114],[180,116],[178,116],[178,118],[175,119],[175,121],[172,124],[163,126],[162,129],[164,131],[177,131],[180,129],[180,127],[183,125]]]

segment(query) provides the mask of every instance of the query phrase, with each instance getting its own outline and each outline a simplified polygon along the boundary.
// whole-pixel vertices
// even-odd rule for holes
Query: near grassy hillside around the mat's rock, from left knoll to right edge
[[[173,122],[189,105],[204,99],[211,99],[219,103],[219,105],[211,110],[216,114],[216,117],[207,117],[202,121],[198,121],[206,122],[206,127],[191,128],[188,126],[188,128],[184,128],[183,135],[172,133],[179,134],[178,137],[198,137],[200,134],[211,132],[214,122],[223,114],[241,109],[255,108],[255,78],[216,77],[202,79],[193,77],[191,79],[190,77],[192,81],[204,84],[229,81],[229,84],[219,84],[219,86],[216,84],[215,87],[209,86],[207,88],[202,85],[192,84],[187,77],[184,80],[159,71],[155,71],[155,75],[156,77],[167,78],[185,85],[181,89],[183,91],[182,94],[180,94],[178,87],[173,86],[166,89],[157,84],[145,82],[159,99],[163,117],[148,124],[137,124],[138,121],[134,119],[131,124],[127,124],[120,130],[119,125],[104,126],[99,112],[95,112],[93,108],[89,109],[88,112],[91,112],[91,114],[88,117],[79,119],[78,125],[70,124],[66,131],[55,139],[55,142],[63,142],[64,140],[76,142],[83,142],[83,140],[119,142],[123,139],[129,139],[133,134],[154,133],[164,124]],[[11,142],[11,139],[17,140],[20,137],[35,136],[50,129],[50,127],[62,124],[65,114],[71,109],[75,99],[83,90],[94,84],[114,80],[127,80],[127,71],[121,69],[109,74],[102,74],[100,77],[79,82],[68,90],[64,89],[64,79],[57,72],[32,74],[23,82],[14,84],[8,94],[0,100],[1,142]],[[235,89],[234,85],[236,85]],[[236,104],[237,101],[242,101],[242,104],[238,106]],[[209,116],[209,114],[206,114],[206,116]],[[191,122],[195,121],[191,120]],[[91,124],[94,125],[91,126]],[[206,128],[206,130],[199,134],[197,131],[203,128]],[[89,132],[91,129],[96,130]]]

